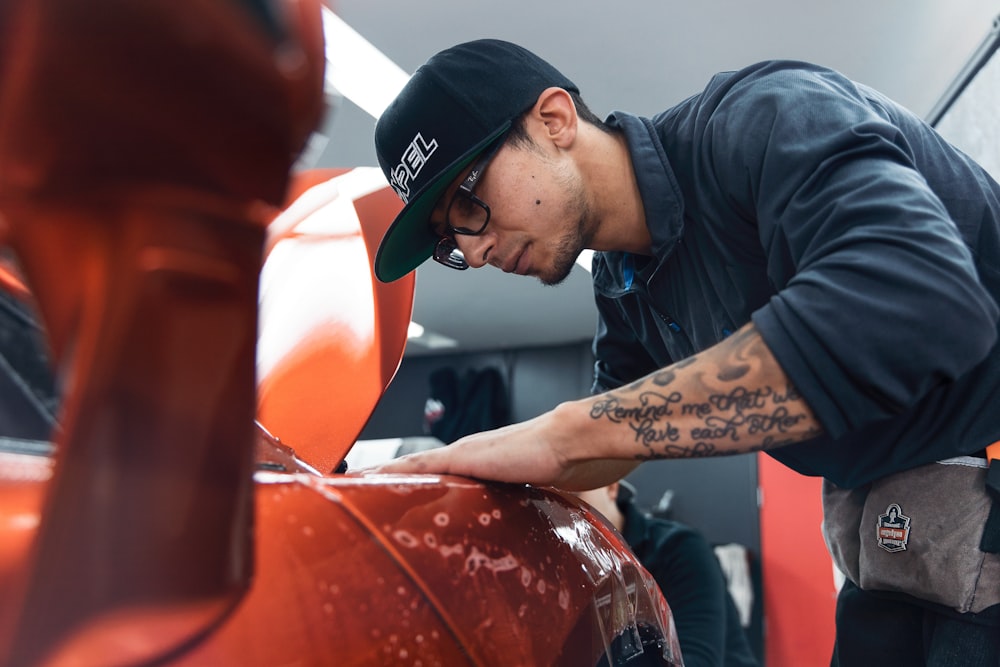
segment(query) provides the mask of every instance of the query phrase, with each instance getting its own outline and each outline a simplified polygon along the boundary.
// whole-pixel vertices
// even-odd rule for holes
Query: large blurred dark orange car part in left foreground
[[[0,663],[161,660],[249,584],[264,211],[323,112],[320,10],[0,5],[0,238],[65,397]]]

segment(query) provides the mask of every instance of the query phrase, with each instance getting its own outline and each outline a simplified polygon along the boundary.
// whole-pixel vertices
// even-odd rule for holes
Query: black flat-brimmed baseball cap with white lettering
[[[549,63],[497,39],[465,42],[432,56],[375,124],[375,152],[405,206],[375,255],[383,282],[402,278],[434,252],[428,225],[448,185],[550,87],[578,93]]]

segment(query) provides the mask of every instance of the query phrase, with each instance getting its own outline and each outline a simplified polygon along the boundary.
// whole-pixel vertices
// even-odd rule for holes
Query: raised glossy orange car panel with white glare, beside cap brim
[[[414,274],[383,283],[378,239],[402,207],[375,168],[312,170],[269,227],[261,273],[257,418],[333,471],[399,368]]]

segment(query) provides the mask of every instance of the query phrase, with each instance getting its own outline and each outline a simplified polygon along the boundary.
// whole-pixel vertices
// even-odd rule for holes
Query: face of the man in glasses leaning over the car
[[[431,217],[437,235],[445,234],[449,208],[450,224],[465,226],[462,195],[456,191],[471,170],[438,201]],[[591,240],[593,222],[579,174],[554,149],[507,142],[479,175],[473,194],[489,207],[489,223],[481,234],[453,235],[471,267],[491,264],[555,285],[566,279]]]

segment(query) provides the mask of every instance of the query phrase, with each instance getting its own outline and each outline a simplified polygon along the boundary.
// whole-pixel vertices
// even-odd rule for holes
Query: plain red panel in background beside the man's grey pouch
[[[837,591],[820,524],[822,479],[757,457],[767,667],[825,667]]]

